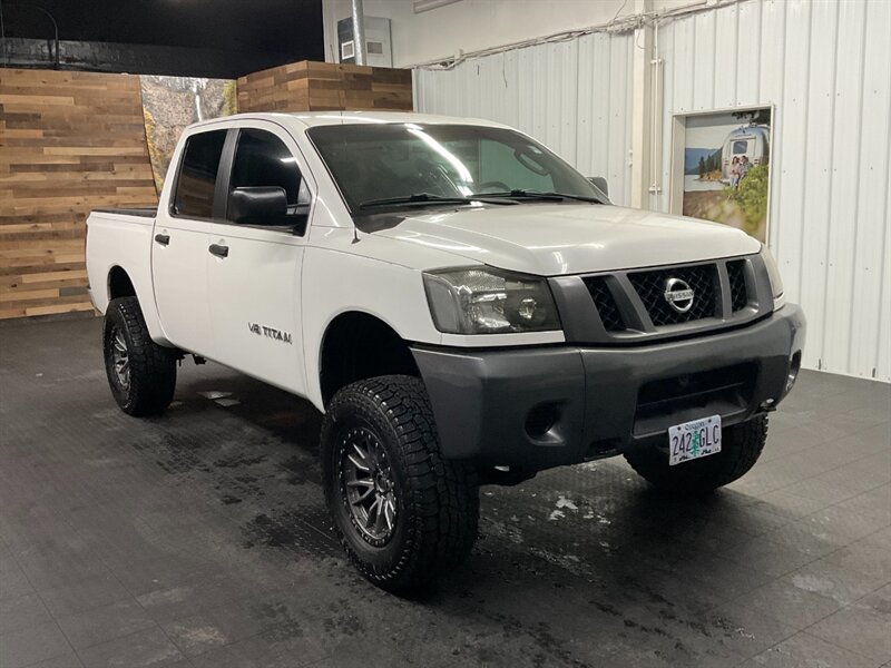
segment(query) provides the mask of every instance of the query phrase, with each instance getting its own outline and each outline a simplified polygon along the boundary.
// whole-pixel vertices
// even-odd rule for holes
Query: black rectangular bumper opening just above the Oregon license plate
[[[752,397],[757,370],[736,364],[712,371],[654,381],[637,395],[634,432],[655,433],[702,415],[731,415],[744,411]]]

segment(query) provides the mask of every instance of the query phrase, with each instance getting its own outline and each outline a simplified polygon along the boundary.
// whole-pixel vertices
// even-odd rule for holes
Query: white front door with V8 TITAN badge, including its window
[[[272,122],[251,121],[234,141],[232,171],[218,188],[226,222],[209,225],[214,358],[298,394],[305,392],[301,344],[301,267],[314,184],[294,139]],[[236,219],[237,189],[281,188],[283,215]]]

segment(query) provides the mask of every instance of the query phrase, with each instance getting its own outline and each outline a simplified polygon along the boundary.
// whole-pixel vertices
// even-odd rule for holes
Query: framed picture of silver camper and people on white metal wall
[[[773,107],[675,116],[672,213],[767,243]]]

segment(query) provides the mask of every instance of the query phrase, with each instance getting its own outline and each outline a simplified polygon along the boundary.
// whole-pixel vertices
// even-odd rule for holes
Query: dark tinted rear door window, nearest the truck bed
[[[183,166],[176,181],[174,213],[194,218],[213,218],[214,186],[226,130],[193,135],[186,140]]]

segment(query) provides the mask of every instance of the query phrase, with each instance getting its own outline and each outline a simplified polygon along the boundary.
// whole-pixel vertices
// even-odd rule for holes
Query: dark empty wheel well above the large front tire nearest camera
[[[420,376],[414,357],[393,328],[368,313],[344,313],[322,343],[321,385],[325,405],[344,385],[386,374]]]

